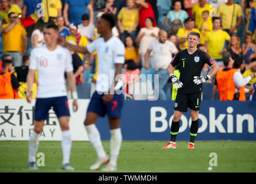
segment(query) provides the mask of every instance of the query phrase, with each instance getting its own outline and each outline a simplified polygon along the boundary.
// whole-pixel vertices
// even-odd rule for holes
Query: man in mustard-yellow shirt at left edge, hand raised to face
[[[8,14],[9,23],[3,24],[1,31],[3,37],[3,53],[9,54],[13,59],[13,66],[22,65],[22,55],[28,51],[28,38],[26,30],[19,25],[20,18],[13,12]]]

